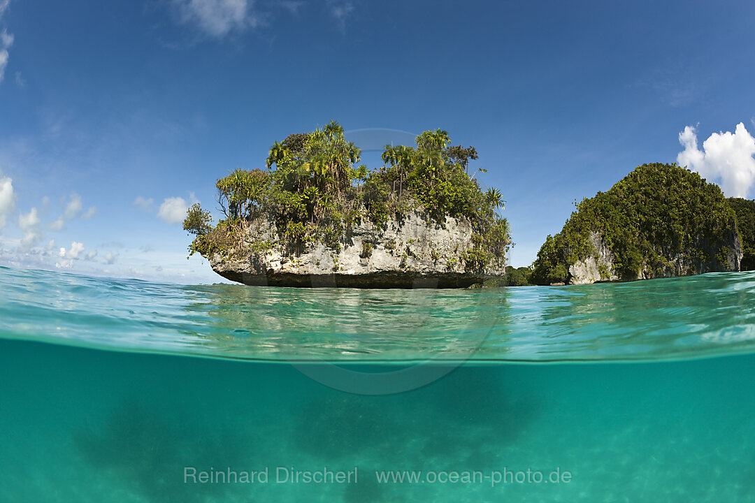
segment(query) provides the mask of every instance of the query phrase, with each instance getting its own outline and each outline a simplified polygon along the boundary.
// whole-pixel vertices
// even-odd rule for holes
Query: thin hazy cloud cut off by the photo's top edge
[[[233,30],[256,26],[253,0],[174,0],[181,23],[194,24],[217,38]]]

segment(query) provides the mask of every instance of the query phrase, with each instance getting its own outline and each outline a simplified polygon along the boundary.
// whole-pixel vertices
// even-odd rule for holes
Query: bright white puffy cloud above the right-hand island
[[[698,149],[695,128],[687,126],[679,133],[684,150],[676,156],[681,166],[697,171],[717,182],[728,197],[747,198],[755,186],[755,138],[741,122],[734,133],[712,133]]]

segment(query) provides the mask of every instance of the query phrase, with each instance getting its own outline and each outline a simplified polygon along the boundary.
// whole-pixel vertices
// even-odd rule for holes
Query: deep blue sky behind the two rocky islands
[[[331,119],[476,146],[513,265],[646,162],[753,198],[753,20],[726,1],[0,0],[0,265],[217,281],[186,260],[182,204],[214,208],[215,179]]]

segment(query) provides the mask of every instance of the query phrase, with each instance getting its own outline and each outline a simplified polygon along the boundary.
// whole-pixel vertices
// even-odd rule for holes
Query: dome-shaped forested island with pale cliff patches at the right
[[[751,203],[732,204],[719,186],[676,164],[643,164],[578,203],[522,272],[527,283],[553,285],[739,271],[752,265]],[[746,214],[747,254],[737,224]]]

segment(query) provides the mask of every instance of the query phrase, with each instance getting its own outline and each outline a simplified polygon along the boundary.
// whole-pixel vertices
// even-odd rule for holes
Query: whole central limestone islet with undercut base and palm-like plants
[[[443,288],[504,278],[504,199],[470,174],[474,147],[429,130],[415,146],[386,146],[377,170],[360,155],[336,122],[274,143],[266,169],[217,180],[217,225],[190,207],[190,254],[248,285]]]

